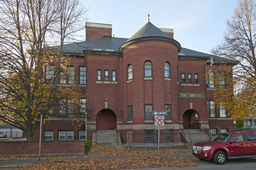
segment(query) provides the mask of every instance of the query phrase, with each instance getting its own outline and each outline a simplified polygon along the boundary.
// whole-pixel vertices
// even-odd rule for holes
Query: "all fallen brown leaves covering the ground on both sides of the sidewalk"
[[[152,148],[137,148],[137,151],[117,151],[109,145],[92,145],[88,155],[42,157],[40,161],[27,165],[3,165],[0,168],[26,169],[129,169],[154,167],[187,167],[197,165],[195,158],[174,158],[168,154],[187,153],[190,149],[161,148],[156,151]],[[80,160],[78,160],[80,158]],[[36,157],[5,157],[0,160],[38,159]],[[72,159],[72,160],[71,160]],[[81,160],[84,159],[84,160]]]

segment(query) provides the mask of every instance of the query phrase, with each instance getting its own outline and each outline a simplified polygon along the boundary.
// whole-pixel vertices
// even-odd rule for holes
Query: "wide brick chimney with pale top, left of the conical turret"
[[[85,39],[100,39],[102,36],[112,36],[112,25],[86,22],[85,23]]]

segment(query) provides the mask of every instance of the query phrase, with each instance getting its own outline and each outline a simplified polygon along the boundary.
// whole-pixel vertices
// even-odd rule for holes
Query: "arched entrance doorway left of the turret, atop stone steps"
[[[110,109],[100,110],[96,117],[97,130],[116,129],[116,114]]]

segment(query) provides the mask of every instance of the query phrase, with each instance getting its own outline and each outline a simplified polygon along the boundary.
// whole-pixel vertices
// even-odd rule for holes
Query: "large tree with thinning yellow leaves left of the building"
[[[84,15],[78,0],[0,2],[0,121],[21,129],[28,141],[40,115],[56,116],[57,95],[70,96],[70,89],[58,86],[67,65],[61,51],[74,32],[84,29]],[[52,61],[56,65],[50,82],[44,70]]]

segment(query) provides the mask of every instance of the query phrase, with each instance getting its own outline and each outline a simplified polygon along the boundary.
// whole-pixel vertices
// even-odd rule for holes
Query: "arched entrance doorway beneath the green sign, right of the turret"
[[[184,129],[199,129],[199,113],[196,110],[186,110],[182,117]]]

